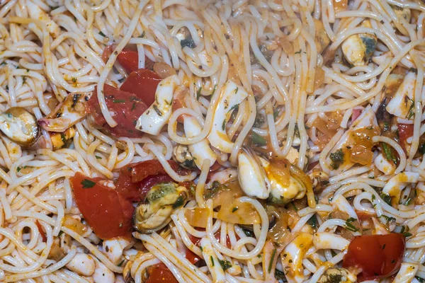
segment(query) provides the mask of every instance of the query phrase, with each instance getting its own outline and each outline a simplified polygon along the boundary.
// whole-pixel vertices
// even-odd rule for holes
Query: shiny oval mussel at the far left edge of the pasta
[[[0,130],[21,146],[32,146],[40,137],[37,119],[22,107],[12,107],[0,114]]]

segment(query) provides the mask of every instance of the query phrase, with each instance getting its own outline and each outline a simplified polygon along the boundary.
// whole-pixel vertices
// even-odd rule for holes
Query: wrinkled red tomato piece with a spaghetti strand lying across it
[[[132,93],[121,91],[113,86],[103,86],[103,93],[108,110],[113,112],[117,127],[110,127],[101,112],[97,98],[97,86],[86,105],[86,112],[94,116],[97,125],[106,129],[115,137],[142,137],[142,132],[135,129],[137,119],[145,112],[147,105]]]

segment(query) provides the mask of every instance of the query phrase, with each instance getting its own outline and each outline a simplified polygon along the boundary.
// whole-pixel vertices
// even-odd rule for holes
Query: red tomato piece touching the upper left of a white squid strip
[[[120,90],[134,93],[150,106],[155,101],[155,92],[160,81],[162,79],[154,71],[136,69],[130,73],[130,76],[125,80]]]

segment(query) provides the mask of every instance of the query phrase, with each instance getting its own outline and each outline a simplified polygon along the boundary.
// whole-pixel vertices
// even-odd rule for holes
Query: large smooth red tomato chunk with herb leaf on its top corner
[[[131,237],[132,213],[130,200],[118,194],[118,190],[101,185],[102,178],[89,178],[76,173],[71,178],[74,199],[99,238]]]

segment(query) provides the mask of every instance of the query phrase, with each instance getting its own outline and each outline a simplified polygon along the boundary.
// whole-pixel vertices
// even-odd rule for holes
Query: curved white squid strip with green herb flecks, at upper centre
[[[234,142],[230,141],[226,134],[226,125],[237,106],[244,101],[248,93],[242,86],[234,81],[227,81],[222,88],[220,98],[214,109],[212,117],[212,127],[208,140],[216,149],[220,149],[227,154],[232,152]]]

